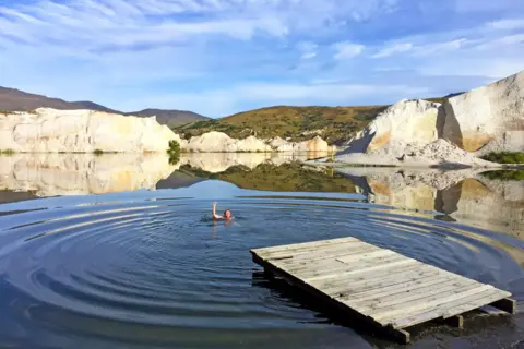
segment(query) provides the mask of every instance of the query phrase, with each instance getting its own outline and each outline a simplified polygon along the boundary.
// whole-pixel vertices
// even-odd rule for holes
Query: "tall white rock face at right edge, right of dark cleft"
[[[444,104],[443,137],[468,152],[524,151],[524,71]]]

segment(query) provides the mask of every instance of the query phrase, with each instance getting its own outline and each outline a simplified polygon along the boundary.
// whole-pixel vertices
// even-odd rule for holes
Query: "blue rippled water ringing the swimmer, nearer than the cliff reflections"
[[[427,213],[396,212],[358,195],[246,196],[221,205],[238,219],[202,219],[209,202],[176,197],[0,217],[0,335],[24,337],[11,329],[38,328],[46,338],[67,330],[91,338],[92,345],[100,338],[163,344],[154,334],[167,327],[206,338],[214,330],[243,332],[255,342],[248,334],[267,328],[332,328],[321,314],[289,301],[258,275],[249,249],[348,236],[524,299],[524,246],[516,239],[498,239]],[[136,324],[143,326],[139,333]],[[111,335],[105,325],[112,326]],[[133,334],[117,335],[126,330]],[[234,342],[217,341],[217,334],[212,341],[167,337],[178,345]]]

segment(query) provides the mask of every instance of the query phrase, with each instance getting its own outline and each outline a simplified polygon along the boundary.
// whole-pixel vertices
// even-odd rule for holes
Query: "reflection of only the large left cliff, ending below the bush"
[[[16,154],[0,156],[0,189],[39,197],[153,190],[174,170],[153,154]]]

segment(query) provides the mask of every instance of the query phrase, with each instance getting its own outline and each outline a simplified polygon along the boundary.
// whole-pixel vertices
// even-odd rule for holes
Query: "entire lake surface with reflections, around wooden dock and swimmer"
[[[299,163],[320,156],[0,156],[0,347],[397,347],[266,280],[249,253],[340,237],[519,302],[463,330],[425,325],[413,347],[523,345],[522,172]],[[211,220],[212,201],[236,219]]]

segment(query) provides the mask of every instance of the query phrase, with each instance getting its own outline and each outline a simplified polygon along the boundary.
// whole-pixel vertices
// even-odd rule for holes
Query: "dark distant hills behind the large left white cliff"
[[[167,124],[169,128],[177,128],[190,122],[209,120],[209,118],[192,111],[144,109],[133,112],[122,112],[90,100],[67,101],[59,98],[29,94],[15,88],[0,87],[0,110],[16,111],[34,110],[37,108],[53,108],[59,110],[90,109],[136,117],[156,116],[156,120],[160,124]]]

